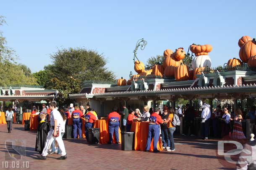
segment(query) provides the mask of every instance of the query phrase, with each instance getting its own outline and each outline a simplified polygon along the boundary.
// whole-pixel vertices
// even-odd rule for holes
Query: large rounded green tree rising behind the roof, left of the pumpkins
[[[69,101],[68,94],[78,93],[85,80],[113,81],[112,71],[105,67],[107,60],[96,51],[84,48],[58,49],[50,58],[52,64],[45,66],[50,81],[46,81],[47,89],[60,92],[59,102]]]

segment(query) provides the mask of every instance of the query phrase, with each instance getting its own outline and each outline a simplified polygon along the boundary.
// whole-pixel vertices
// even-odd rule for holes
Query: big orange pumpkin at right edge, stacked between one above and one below
[[[251,56],[256,55],[256,41],[255,38],[251,41],[247,41],[241,46],[239,50],[239,57],[244,62],[247,63]]]

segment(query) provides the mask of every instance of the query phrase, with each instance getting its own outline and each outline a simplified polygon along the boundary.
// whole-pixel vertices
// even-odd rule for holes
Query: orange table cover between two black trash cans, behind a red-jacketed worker
[[[106,120],[95,120],[94,122],[94,128],[99,128],[99,143],[101,144],[107,144],[109,142],[109,134],[108,134],[108,123]],[[119,127],[118,130],[119,134],[119,143],[121,143],[121,130]],[[115,135],[113,135],[112,142],[115,142]]]

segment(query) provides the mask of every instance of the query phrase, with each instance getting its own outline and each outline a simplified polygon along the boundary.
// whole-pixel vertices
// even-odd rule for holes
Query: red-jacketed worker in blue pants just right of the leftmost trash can
[[[82,120],[81,117],[84,117],[84,114],[79,110],[78,106],[75,106],[75,110],[72,112],[72,118],[73,118],[73,137],[77,137],[77,129],[78,129],[78,135],[79,139],[82,138],[82,129],[81,124]]]

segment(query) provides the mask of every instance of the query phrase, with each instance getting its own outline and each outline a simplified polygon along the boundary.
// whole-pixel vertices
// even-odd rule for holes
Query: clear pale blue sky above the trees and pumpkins
[[[211,44],[212,66],[239,58],[238,39],[256,37],[256,0],[2,0],[0,27],[19,63],[32,72],[51,63],[57,48],[85,47],[102,53],[117,78],[128,78],[133,50],[140,38],[147,41],[138,58],[192,43]]]

